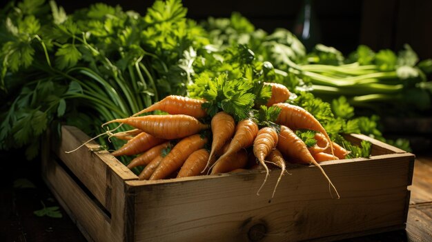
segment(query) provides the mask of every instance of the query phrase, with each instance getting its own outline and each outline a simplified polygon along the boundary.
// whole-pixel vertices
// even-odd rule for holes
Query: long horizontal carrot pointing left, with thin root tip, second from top
[[[132,125],[161,139],[180,139],[208,128],[208,125],[200,123],[198,119],[184,114],[147,115],[114,119],[104,123],[104,125],[115,122]]]

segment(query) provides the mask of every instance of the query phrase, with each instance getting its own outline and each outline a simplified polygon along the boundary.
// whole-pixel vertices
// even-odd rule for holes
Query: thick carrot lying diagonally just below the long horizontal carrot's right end
[[[159,166],[153,172],[150,180],[164,179],[177,169],[181,168],[184,161],[188,159],[190,154],[204,147],[207,143],[207,138],[202,138],[199,134],[193,134],[189,137],[181,139],[173,150],[161,161]]]

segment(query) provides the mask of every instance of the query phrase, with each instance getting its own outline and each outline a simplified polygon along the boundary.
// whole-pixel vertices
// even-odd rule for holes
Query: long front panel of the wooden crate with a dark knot
[[[264,174],[257,173],[147,185],[128,181],[136,185],[135,239],[248,241],[264,231],[262,241],[299,241],[395,228],[406,219],[410,165],[409,156],[395,155],[325,165],[340,199],[331,198],[316,167],[289,170],[273,199],[277,170],[259,196]]]

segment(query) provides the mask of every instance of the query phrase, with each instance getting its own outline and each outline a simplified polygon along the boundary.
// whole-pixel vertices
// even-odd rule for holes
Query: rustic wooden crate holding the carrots
[[[89,241],[332,241],[405,228],[415,156],[363,135],[369,159],[326,161],[340,193],[332,198],[315,166],[138,181],[79,129],[43,148],[43,179]]]

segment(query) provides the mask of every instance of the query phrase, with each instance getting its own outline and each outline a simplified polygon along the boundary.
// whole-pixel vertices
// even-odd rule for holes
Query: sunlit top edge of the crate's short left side
[[[84,143],[91,138],[87,134],[76,128],[75,126],[63,125],[61,126],[61,132],[68,132],[72,137],[74,137],[78,143]],[[117,158],[112,156],[107,150],[100,150],[100,145],[95,141],[90,141],[81,147],[80,149],[87,148],[90,152],[95,154],[101,161],[106,163],[111,170],[121,177],[123,180],[134,180],[138,179],[138,176],[129,170],[126,165],[121,163]],[[63,154],[59,154],[61,158]]]

